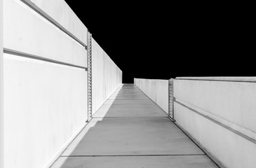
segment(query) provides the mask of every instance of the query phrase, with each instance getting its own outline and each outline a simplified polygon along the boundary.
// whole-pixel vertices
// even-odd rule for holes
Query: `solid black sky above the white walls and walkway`
[[[246,4],[66,0],[133,78],[256,76],[255,18]]]

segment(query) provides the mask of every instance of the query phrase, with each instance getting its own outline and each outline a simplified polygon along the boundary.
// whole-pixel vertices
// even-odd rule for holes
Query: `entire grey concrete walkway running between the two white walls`
[[[125,84],[95,113],[53,167],[217,166],[140,89]]]

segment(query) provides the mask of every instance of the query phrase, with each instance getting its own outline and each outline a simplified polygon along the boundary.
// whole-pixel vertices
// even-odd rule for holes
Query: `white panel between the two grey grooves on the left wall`
[[[4,0],[4,48],[87,66],[80,43],[18,0]]]

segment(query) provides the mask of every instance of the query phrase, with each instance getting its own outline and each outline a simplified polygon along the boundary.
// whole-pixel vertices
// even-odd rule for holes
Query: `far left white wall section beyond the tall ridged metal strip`
[[[92,48],[92,104],[95,113],[121,85],[122,71],[94,39]]]

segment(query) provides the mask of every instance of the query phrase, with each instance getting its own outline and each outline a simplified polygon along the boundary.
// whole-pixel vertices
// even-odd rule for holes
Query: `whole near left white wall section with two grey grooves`
[[[4,48],[87,66],[81,43],[22,1],[3,1]],[[29,2],[87,43],[86,27],[65,1]],[[4,80],[4,167],[50,166],[86,125],[87,72],[4,53],[4,77],[0,77],[1,83]]]

